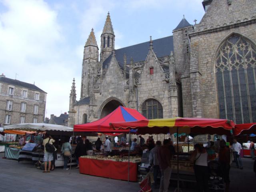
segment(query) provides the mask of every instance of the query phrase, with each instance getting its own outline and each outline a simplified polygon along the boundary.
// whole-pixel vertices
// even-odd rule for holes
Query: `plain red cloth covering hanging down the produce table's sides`
[[[79,158],[79,171],[82,174],[128,180],[128,162]],[[137,163],[130,162],[130,181],[137,181]]]

